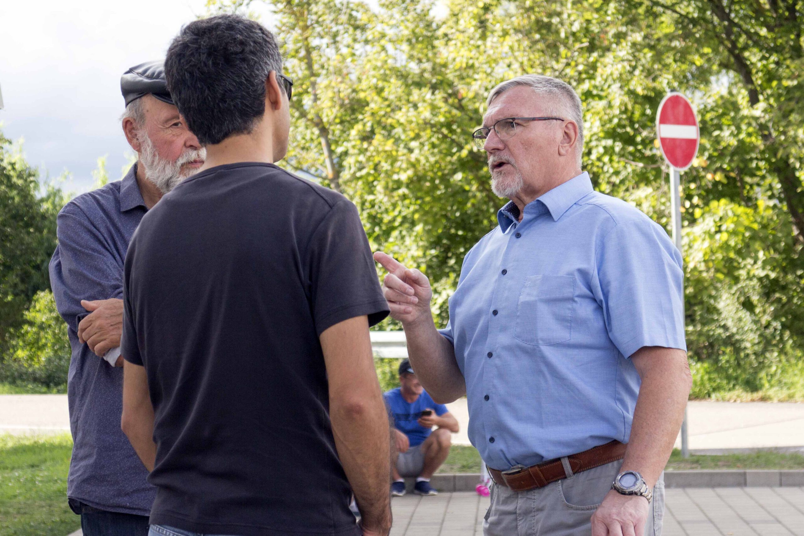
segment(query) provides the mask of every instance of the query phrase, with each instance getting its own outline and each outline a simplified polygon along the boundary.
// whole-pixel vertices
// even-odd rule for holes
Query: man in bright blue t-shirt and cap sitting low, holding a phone
[[[392,433],[397,453],[396,463],[391,465],[391,494],[402,497],[405,493],[402,477],[416,477],[413,493],[437,495],[430,477],[449,456],[452,443],[449,432],[457,433],[457,419],[444,404],[433,402],[408,359],[400,363],[400,387],[386,392],[384,398],[394,421]]]

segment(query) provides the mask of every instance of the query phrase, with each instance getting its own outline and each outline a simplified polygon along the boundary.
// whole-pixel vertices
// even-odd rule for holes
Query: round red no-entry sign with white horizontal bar
[[[668,93],[656,112],[656,135],[662,154],[677,170],[686,170],[698,153],[700,132],[695,110],[686,96]]]

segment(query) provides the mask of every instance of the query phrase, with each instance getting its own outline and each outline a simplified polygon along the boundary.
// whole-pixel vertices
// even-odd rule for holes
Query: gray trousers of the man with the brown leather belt
[[[620,473],[622,460],[589,469],[544,488],[516,493],[491,485],[484,536],[590,536],[592,514]],[[653,490],[645,536],[661,536],[664,475]]]

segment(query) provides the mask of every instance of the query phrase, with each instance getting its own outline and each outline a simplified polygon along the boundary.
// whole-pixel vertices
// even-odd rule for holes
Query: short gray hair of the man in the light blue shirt
[[[491,90],[486,99],[486,107],[503,92],[517,86],[531,88],[536,95],[547,95],[552,97],[552,103],[548,105],[548,113],[556,116],[567,117],[578,125],[578,140],[576,142],[576,158],[578,167],[581,166],[581,156],[584,153],[584,111],[580,104],[578,94],[572,86],[553,78],[543,75],[523,75],[506,80],[502,84]]]

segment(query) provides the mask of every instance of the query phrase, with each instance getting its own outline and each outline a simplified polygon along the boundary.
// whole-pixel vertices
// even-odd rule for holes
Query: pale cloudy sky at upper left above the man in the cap
[[[165,55],[183,24],[203,14],[204,0],[0,0],[0,129],[24,138],[24,153],[42,178],[65,170],[62,187],[92,188],[92,170],[107,155],[109,180],[121,177],[131,149],[118,118],[120,76]],[[269,15],[263,15],[262,22]]]

